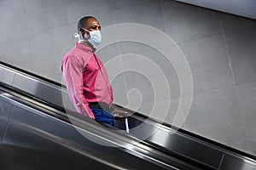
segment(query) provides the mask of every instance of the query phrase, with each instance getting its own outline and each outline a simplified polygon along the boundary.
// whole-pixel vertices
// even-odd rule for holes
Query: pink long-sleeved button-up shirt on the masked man
[[[69,98],[79,114],[95,119],[88,102],[112,104],[107,71],[90,47],[77,42],[62,59],[61,69]]]

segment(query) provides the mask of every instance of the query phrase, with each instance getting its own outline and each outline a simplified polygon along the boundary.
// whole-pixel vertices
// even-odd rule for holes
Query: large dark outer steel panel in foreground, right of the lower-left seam
[[[108,144],[108,140],[92,133],[86,134],[90,139],[66,122],[32,108],[15,105],[3,139],[0,167],[5,170],[165,169],[119,147],[98,144],[96,141],[102,140]]]

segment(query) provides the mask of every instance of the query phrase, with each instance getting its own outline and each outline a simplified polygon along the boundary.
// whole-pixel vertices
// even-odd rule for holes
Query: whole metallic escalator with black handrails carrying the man
[[[0,63],[1,169],[256,169],[254,156],[140,113],[126,133],[125,120],[106,126],[63,99],[61,84]]]

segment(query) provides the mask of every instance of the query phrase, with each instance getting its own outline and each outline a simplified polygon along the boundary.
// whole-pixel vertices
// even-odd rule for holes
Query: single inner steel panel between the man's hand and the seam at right
[[[166,151],[197,161],[207,167],[218,169],[223,156],[220,150],[189,139],[174,130],[154,126],[152,122],[147,120],[143,122],[134,117],[129,117],[128,120],[130,133],[139,139],[158,144]]]

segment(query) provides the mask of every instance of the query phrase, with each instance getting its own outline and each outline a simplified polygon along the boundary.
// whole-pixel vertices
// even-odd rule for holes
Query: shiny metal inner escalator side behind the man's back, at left
[[[24,94],[31,95],[33,98],[40,99],[42,102],[59,108],[64,107],[62,95],[67,95],[67,92],[61,92],[61,84],[49,83],[42,79],[43,77],[36,77],[16,69],[0,62],[0,82]]]

